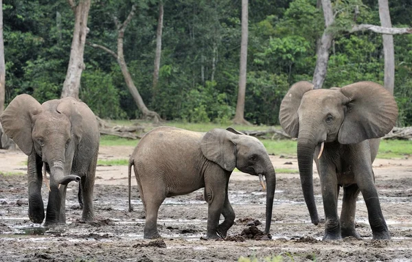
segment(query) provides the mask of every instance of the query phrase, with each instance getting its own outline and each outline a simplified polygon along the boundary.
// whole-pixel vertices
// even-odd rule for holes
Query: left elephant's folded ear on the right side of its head
[[[79,103],[76,99],[73,97],[66,97],[61,99],[60,104],[57,106],[57,111],[60,112],[60,114],[65,115],[67,118],[69,118],[70,123],[71,123],[71,131],[73,132],[75,138],[77,141],[80,141],[82,139],[82,115],[80,115],[80,112],[78,110]]]

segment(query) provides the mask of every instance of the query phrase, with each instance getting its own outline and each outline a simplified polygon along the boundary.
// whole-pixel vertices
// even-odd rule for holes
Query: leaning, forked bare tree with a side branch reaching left
[[[144,104],[144,101],[141,98],[139,91],[137,91],[135,83],[133,82],[132,76],[130,75],[130,72],[128,71],[126,60],[124,60],[124,52],[123,52],[124,32],[126,31],[126,27],[130,23],[130,21],[133,19],[133,16],[135,16],[135,14],[136,14],[136,5],[133,5],[132,9],[130,10],[130,13],[128,14],[126,20],[123,23],[120,23],[117,17],[115,16],[113,17],[116,27],[117,27],[117,53],[115,53],[111,49],[108,49],[107,47],[104,47],[103,45],[97,45],[93,43],[89,43],[89,45],[91,45],[91,47],[100,48],[106,51],[107,53],[110,53],[114,58],[116,58],[117,63],[119,64],[119,67],[122,70],[122,74],[126,82],[126,86],[128,87],[130,94],[133,96],[133,99],[135,100],[137,107],[141,111],[143,118],[150,118],[150,119],[153,119],[155,122],[158,122],[161,120],[161,117],[159,116],[159,114],[157,114],[157,112],[149,110],[146,104]]]

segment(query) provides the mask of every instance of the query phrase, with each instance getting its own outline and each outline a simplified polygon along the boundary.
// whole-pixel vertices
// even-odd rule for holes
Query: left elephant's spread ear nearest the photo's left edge
[[[0,117],[5,134],[29,156],[33,151],[32,123],[35,115],[43,112],[41,104],[31,95],[14,97]]]

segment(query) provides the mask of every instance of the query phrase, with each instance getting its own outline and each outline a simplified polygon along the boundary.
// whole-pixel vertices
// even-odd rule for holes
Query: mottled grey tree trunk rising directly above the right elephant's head
[[[328,30],[328,27],[334,22],[330,0],[322,0],[322,9],[323,16],[325,17],[325,30],[323,31],[321,43],[316,52],[317,60],[312,80],[314,89],[322,88],[323,82],[325,82],[326,72],[328,71],[329,49],[332,46],[332,40],[334,38],[332,32]]]

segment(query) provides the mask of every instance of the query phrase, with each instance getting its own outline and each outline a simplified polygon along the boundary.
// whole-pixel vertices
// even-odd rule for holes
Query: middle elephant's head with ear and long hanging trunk
[[[266,177],[266,228],[271,228],[273,196],[276,187],[275,169],[262,142],[253,136],[244,135],[233,128],[213,129],[201,141],[203,155],[227,171],[237,167],[254,176]]]

